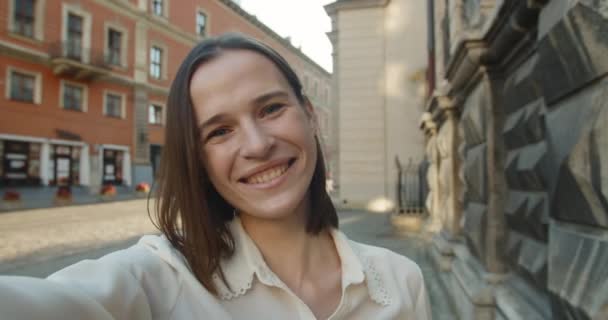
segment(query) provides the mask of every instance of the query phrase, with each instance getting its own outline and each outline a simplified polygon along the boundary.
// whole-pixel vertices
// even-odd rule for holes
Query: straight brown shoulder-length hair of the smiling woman
[[[251,50],[274,63],[287,79],[302,106],[310,103],[302,92],[296,73],[275,50],[246,36],[229,33],[202,41],[182,62],[171,85],[167,102],[165,146],[157,179],[155,224],[171,244],[187,259],[196,278],[213,294],[214,272],[221,270],[221,258],[234,252],[234,239],[227,223],[234,217],[234,208],[211,184],[202,164],[200,132],[190,98],[192,74],[204,62],[223,50]],[[306,231],[318,234],[329,227],[338,227],[336,210],[325,191],[325,165],[318,138],[317,161],[310,183],[311,211]]]

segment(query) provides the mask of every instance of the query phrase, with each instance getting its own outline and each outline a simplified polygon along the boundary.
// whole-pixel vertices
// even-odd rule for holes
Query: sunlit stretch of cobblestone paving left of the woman
[[[0,213],[0,273],[158,232],[146,200]],[[154,202],[150,201],[150,210]]]

